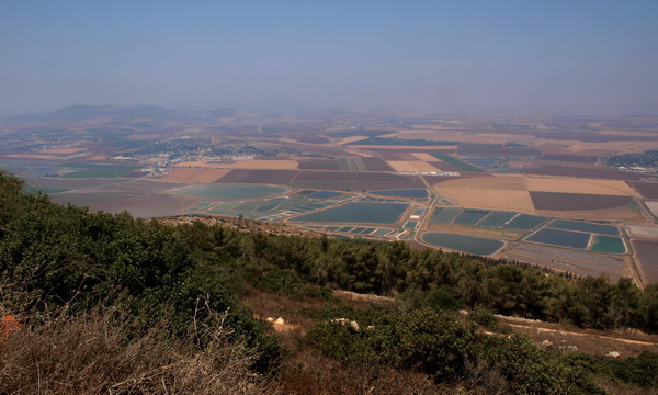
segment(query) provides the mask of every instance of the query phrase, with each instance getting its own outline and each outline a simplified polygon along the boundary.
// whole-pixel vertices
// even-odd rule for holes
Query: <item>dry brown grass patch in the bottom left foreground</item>
[[[118,320],[117,320],[118,318]],[[166,326],[133,340],[112,313],[61,317],[2,340],[2,394],[268,394],[253,356],[217,328],[204,349],[163,339]]]

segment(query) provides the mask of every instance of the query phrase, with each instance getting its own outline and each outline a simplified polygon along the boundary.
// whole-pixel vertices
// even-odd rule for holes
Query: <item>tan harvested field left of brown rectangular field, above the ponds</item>
[[[434,185],[434,191],[464,207],[535,213],[523,177],[451,180]]]

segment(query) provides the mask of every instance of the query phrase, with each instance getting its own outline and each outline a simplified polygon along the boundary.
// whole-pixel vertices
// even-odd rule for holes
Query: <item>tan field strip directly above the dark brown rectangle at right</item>
[[[529,191],[536,192],[589,193],[634,198],[640,196],[633,188],[621,180],[572,179],[565,177],[526,177],[525,183]]]

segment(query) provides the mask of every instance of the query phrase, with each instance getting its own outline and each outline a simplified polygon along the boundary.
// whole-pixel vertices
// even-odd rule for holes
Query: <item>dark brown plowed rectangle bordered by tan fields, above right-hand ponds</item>
[[[530,192],[536,210],[590,211],[623,207],[631,196],[600,195],[587,193]]]

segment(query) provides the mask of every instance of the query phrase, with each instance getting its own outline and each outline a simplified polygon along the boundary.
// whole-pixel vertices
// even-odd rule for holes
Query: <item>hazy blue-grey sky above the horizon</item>
[[[658,115],[658,0],[0,1],[0,113],[272,99]]]

